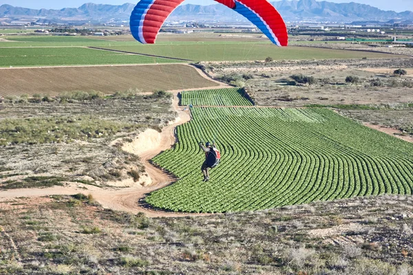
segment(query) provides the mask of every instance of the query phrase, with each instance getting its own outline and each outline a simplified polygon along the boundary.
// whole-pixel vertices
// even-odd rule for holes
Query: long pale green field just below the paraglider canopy
[[[284,59],[331,59],[331,58],[390,58],[392,54],[348,50],[319,49],[313,47],[277,47],[271,43],[253,42],[198,42],[155,45],[112,45],[108,49],[138,52],[156,56],[168,56],[192,61],[255,61],[271,56]]]

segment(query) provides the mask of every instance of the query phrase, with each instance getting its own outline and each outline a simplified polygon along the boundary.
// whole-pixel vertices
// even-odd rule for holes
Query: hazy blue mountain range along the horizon
[[[348,23],[351,21],[406,21],[413,20],[413,12],[384,11],[360,3],[332,3],[316,0],[282,0],[271,2],[285,21],[330,21]],[[129,21],[136,4],[103,5],[85,3],[79,8],[61,10],[34,10],[12,5],[0,6],[0,23],[19,20],[34,20],[38,23],[113,23]],[[180,5],[169,17],[169,21],[221,21],[246,22],[244,17],[224,5]]]

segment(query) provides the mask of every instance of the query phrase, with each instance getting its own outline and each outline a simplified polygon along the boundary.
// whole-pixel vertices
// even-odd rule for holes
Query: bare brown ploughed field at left
[[[50,95],[65,91],[157,91],[217,85],[190,65],[121,65],[0,69],[0,96]]]

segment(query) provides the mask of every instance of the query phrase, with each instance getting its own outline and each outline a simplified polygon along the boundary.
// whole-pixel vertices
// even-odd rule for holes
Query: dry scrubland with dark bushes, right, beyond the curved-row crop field
[[[410,72],[411,58],[324,61],[202,63],[206,72],[244,86],[258,105],[279,107],[325,106],[361,122],[413,133],[413,78],[394,76],[395,69]],[[291,76],[307,76],[311,85]],[[356,77],[346,83],[348,76]]]

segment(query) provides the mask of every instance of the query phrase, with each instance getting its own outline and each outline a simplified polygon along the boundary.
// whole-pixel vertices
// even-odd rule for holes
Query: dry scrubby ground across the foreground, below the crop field
[[[149,219],[93,197],[0,204],[1,274],[413,272],[412,197]]]

